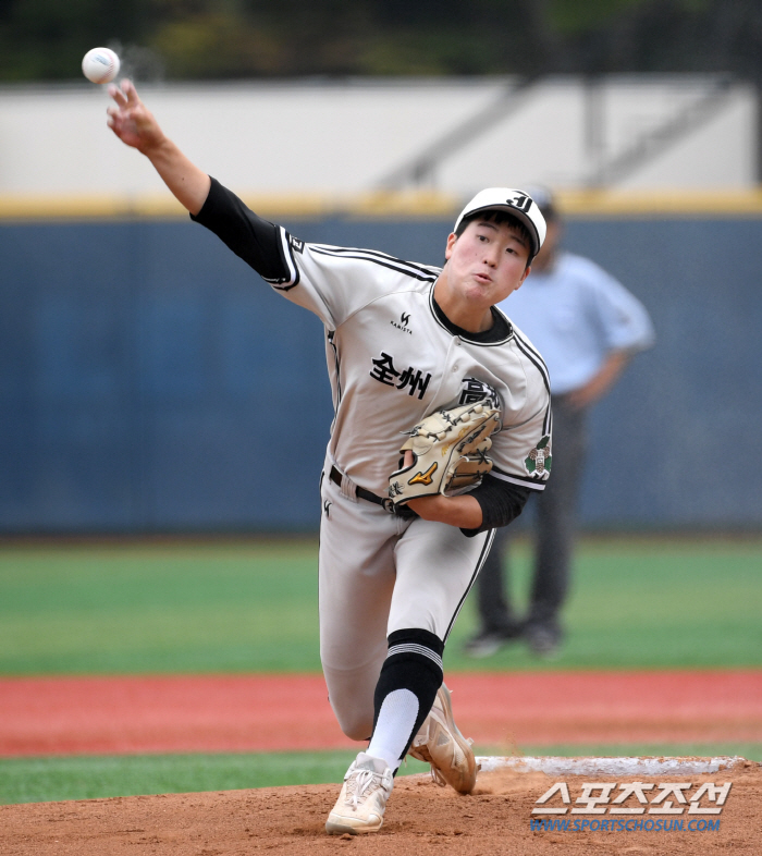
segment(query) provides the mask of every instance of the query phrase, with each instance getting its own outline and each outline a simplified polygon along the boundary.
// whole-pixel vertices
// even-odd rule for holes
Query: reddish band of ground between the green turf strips
[[[447,676],[477,744],[762,742],[762,670]],[[0,756],[356,748],[320,675],[0,680]]]

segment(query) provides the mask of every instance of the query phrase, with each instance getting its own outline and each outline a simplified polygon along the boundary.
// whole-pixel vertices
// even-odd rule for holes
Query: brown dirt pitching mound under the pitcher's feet
[[[531,830],[536,800],[554,783],[543,773],[504,770],[480,774],[476,793],[458,796],[430,779],[395,783],[383,829],[367,836],[329,836],[325,817],[337,785],[173,794],[69,803],[0,806],[3,856],[228,856],[259,852],[315,856],[354,852],[533,856],[533,854],[714,854],[757,856],[762,829],[762,770],[745,762],[702,775],[642,778],[644,782],[733,782],[711,831]],[[583,778],[566,776],[572,798]],[[598,778],[585,781],[631,781]],[[674,815],[672,816],[674,817]],[[683,816],[687,821],[687,814]],[[637,822],[641,818],[635,818]],[[646,816],[648,819],[648,816]],[[672,818],[669,818],[672,819]],[[632,818],[626,817],[630,821]],[[704,818],[700,818],[704,821]],[[717,818],[711,817],[712,823]]]

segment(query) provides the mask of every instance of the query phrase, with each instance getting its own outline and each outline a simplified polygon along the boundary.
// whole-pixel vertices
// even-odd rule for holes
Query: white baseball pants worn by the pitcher
[[[421,628],[446,641],[489,553],[493,534],[405,521],[335,485],[327,462],[321,484],[320,659],[342,731],[370,737],[373,692],[386,637]]]

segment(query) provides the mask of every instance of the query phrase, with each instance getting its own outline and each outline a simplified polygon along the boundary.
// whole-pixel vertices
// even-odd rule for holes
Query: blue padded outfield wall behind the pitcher
[[[448,221],[292,221],[440,264]],[[573,220],[659,342],[595,411],[582,523],[762,524],[762,220]],[[317,528],[322,327],[190,222],[0,227],[0,531]]]

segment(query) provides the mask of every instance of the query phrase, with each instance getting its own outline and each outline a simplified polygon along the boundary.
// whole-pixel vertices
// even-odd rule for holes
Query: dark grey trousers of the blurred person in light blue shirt
[[[577,498],[587,445],[587,411],[573,408],[566,396],[554,395],[551,475],[536,504],[534,572],[526,627],[546,627],[560,636],[558,613],[569,588],[577,517]],[[517,635],[519,622],[503,575],[511,527],[495,531],[492,550],[478,578],[481,632]]]

